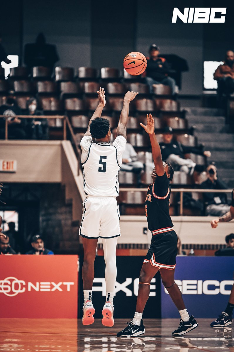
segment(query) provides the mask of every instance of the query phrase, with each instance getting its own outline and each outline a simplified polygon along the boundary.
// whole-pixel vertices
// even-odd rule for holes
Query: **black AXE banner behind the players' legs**
[[[145,257],[124,257],[116,258],[117,278],[115,282],[115,318],[131,319],[135,313],[140,269]],[[80,272],[82,270],[83,258],[80,257]],[[105,261],[102,256],[97,256],[94,262],[94,284],[92,301],[95,308],[95,318],[102,318],[102,307],[106,300],[105,283]],[[78,318],[82,317],[83,308],[83,283],[82,276],[79,276],[79,309]],[[160,277],[156,275],[151,281],[150,297],[148,299],[145,318],[160,318]]]

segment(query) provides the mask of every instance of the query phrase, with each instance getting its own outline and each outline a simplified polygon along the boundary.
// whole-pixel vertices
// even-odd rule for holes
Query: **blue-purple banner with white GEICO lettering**
[[[215,318],[226,308],[233,285],[233,257],[177,257],[175,281],[189,314]],[[178,310],[162,285],[162,318],[178,318]]]

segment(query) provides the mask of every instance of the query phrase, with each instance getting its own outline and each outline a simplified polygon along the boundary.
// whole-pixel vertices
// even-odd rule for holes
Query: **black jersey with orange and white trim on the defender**
[[[148,228],[153,235],[172,230],[173,224],[169,215],[170,194],[171,189],[166,172],[163,176],[157,176],[154,183],[148,187],[145,214]]]

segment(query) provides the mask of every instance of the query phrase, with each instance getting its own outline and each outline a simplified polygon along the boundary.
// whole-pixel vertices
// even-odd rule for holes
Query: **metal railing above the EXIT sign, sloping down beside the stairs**
[[[8,140],[8,126],[9,126],[9,117],[6,117],[6,115],[0,115],[0,118],[5,118],[5,140]],[[69,118],[67,115],[16,115],[15,118],[19,119],[48,119],[48,120],[55,120],[55,119],[61,119],[63,120],[63,140],[67,139],[67,127],[70,132],[71,136],[71,144],[74,149],[77,161],[78,161],[78,167],[77,167],[77,175],[80,173],[80,162],[81,162],[81,153],[80,150],[78,149],[77,143],[76,143],[76,137],[73,132],[71,123],[69,121]],[[61,127],[62,127],[61,126]]]

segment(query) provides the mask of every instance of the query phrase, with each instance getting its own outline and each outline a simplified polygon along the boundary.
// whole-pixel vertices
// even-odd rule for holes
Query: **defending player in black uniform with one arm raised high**
[[[171,217],[169,215],[170,181],[173,177],[173,168],[163,162],[160,146],[154,133],[154,120],[152,115],[147,114],[147,125],[140,124],[150,137],[154,170],[152,174],[153,184],[148,188],[145,213],[148,228],[152,232],[150,249],[146,254],[139,277],[139,291],[137,296],[137,308],[133,320],[128,326],[120,331],[118,337],[138,336],[145,332],[142,314],[150,294],[150,282],[160,270],[162,282],[167,289],[172,301],[175,303],[181,315],[179,327],[172,332],[173,336],[181,336],[195,329],[198,323],[185,308],[180,289],[174,280],[177,254],[177,235],[173,231]]]

